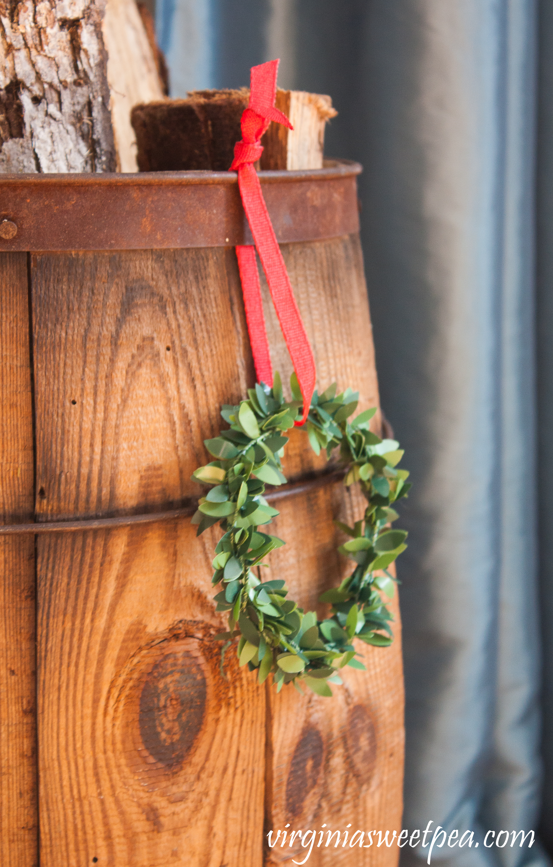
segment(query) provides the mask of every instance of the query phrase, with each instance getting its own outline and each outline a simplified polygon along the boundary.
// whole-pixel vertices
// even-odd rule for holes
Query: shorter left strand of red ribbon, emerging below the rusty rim
[[[236,255],[257,382],[264,382],[266,385],[272,386],[273,368],[270,363],[269,341],[267,340],[265,316],[263,315],[255,247],[239,246],[236,248]]]

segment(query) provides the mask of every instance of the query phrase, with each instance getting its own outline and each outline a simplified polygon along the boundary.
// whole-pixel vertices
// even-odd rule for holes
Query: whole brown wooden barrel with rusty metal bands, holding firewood
[[[261,179],[320,388],[358,388],[364,409],[378,387],[359,171]],[[361,645],[367,673],[344,669],[332,699],[260,688],[234,651],[224,679],[211,640],[220,531],[196,538],[190,477],[220,405],[255,381],[236,175],[13,175],[0,190],[0,862],[36,864],[40,825],[41,867],[303,860],[298,838],[270,849],[271,829],[324,831],[310,865],[393,867],[397,845],[367,832],[400,831],[397,606],[393,645]],[[285,473],[267,573],[322,613],[348,570],[333,521],[363,505],[301,431]],[[346,830],[361,846],[342,846]]]

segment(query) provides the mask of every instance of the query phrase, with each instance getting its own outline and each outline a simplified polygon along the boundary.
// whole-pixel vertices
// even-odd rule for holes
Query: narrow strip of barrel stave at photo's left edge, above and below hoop
[[[27,254],[0,254],[0,520],[33,514]],[[35,540],[0,540],[0,864],[36,864]]]

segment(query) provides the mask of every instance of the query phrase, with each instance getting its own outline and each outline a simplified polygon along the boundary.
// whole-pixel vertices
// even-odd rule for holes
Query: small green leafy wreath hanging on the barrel
[[[300,429],[307,431],[316,454],[326,449],[329,458],[340,448],[344,484],[358,484],[368,505],[355,526],[335,522],[350,537],[338,551],[355,560],[355,569],[339,587],[320,596],[321,602],[332,604],[331,616],[320,621],[315,611],[304,613],[287,598],[283,580],[263,581],[257,568],[266,565],[263,558],[270,551],[284,544],[259,528],[278,514],[263,492],[266,484],[286,482],[280,459],[288,437],[283,434],[302,415],[296,375],[290,385],[292,401],[284,401],[276,374],[272,388],[257,383],[248,390],[248,400],[222,408],[231,427],[205,440],[216,460],[200,466],[192,479],[212,487],[199,500],[192,523],[198,524],[198,536],[218,521],[224,530],[212,564],[212,584],[222,587],[215,596],[217,610],[229,612],[228,631],[215,636],[225,642],[222,674],[224,651],[238,638],[239,663],[257,670],[260,684],[272,674],[277,692],[283,684],[293,683],[301,693],[303,682],[316,694],[332,695],[329,683],[342,683],[340,668],[365,670],[355,658],[354,636],[376,647],[387,647],[393,640],[389,624],[394,618],[381,593],[393,596],[396,579],[388,567],[407,547],[407,532],[389,525],[399,517],[392,504],[407,495],[409,473],[396,468],[403,456],[399,443],[381,440],[369,430],[375,408],[350,420],[357,392],[348,388],[336,394],[334,384],[313,394],[308,420]]]

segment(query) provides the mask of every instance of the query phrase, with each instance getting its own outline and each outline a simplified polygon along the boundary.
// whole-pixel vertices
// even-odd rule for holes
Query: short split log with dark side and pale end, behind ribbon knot
[[[246,88],[197,90],[186,100],[135,106],[131,122],[140,172],[225,172],[242,138],[240,118],[249,99]],[[270,125],[260,168],[322,168],[324,127],[336,114],[330,97],[278,89],[276,108],[290,118],[294,131]]]

